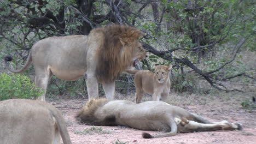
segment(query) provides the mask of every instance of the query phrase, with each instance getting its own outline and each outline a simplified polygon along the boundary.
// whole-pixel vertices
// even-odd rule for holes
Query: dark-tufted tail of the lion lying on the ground
[[[179,119],[180,120],[180,119]],[[178,128],[177,128],[177,123],[180,123],[181,121],[174,121],[173,119],[170,119],[170,128],[171,131],[166,134],[159,134],[159,135],[150,135],[149,133],[142,133],[142,137],[144,139],[152,139],[152,138],[157,138],[157,137],[168,137],[168,136],[174,136],[177,134]]]

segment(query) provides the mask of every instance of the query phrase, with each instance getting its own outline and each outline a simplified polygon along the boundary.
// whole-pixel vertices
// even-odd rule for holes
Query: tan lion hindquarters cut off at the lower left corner
[[[0,143],[71,143],[66,123],[53,105],[39,100],[0,101]]]

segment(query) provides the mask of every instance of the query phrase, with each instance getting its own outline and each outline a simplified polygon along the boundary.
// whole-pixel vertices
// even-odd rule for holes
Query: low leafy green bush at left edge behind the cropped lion
[[[0,75],[0,100],[21,98],[31,99],[42,95],[43,91],[34,86],[27,76],[20,74]]]

